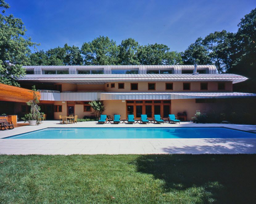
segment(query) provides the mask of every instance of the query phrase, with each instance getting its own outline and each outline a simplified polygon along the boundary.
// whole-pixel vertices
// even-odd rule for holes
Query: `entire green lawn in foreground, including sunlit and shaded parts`
[[[0,203],[255,203],[256,155],[0,155]]]

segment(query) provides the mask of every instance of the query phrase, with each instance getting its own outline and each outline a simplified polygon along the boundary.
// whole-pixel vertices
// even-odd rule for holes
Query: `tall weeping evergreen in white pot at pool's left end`
[[[37,105],[39,104],[39,100],[36,94],[35,85],[32,86],[32,92],[33,99],[27,102],[27,105],[31,106],[30,113],[26,114],[22,119],[24,122],[28,121],[29,125],[38,125],[41,108]]]

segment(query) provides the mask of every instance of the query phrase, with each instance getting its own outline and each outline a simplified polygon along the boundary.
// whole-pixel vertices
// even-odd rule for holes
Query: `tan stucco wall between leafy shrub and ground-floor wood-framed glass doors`
[[[103,114],[111,115],[119,114],[121,119],[126,118],[126,102],[122,100],[104,100],[105,111]]]

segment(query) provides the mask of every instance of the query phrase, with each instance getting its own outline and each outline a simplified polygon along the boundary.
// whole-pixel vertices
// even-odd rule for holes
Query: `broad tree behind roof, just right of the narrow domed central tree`
[[[169,51],[167,45],[148,44],[139,47],[138,58],[142,65],[163,65],[166,53]]]

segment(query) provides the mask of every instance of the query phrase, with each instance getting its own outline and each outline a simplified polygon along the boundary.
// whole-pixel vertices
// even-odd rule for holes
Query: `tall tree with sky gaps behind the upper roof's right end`
[[[210,33],[202,40],[202,45],[208,50],[210,61],[216,66],[218,73],[223,73],[227,69],[229,54],[226,51],[232,37],[233,33],[222,30],[221,32]]]

